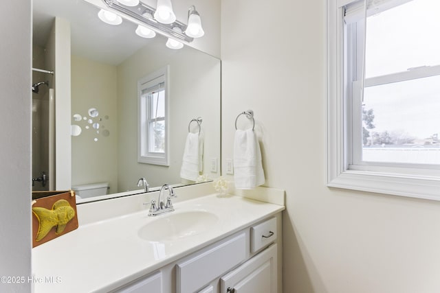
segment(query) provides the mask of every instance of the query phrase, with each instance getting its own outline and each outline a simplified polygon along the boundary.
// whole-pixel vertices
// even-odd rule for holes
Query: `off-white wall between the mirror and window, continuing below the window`
[[[222,0],[223,170],[250,108],[286,190],[283,292],[440,292],[440,202],[325,186],[325,3]]]

